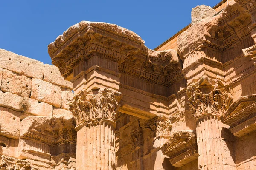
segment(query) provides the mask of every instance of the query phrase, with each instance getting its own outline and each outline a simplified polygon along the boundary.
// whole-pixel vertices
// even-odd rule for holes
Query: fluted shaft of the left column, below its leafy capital
[[[115,126],[109,119],[84,122],[77,132],[77,170],[115,170]],[[81,158],[82,157],[82,158]]]

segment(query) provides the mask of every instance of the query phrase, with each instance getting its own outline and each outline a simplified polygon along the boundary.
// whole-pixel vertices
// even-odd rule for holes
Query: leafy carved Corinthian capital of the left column
[[[82,90],[73,96],[68,105],[75,116],[76,124],[79,125],[94,119],[114,120],[121,98],[120,92],[108,88],[89,92]]]

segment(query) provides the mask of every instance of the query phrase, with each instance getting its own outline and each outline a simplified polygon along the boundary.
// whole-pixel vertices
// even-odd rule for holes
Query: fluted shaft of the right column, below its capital
[[[221,138],[222,128],[223,124],[217,115],[204,114],[198,117],[196,134],[199,170],[224,170],[225,142]]]

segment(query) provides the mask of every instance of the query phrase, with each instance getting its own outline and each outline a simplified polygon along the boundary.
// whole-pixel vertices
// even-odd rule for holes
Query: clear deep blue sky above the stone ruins
[[[197,5],[221,0],[1,0],[0,48],[51,63],[47,45],[82,20],[134,31],[154,49],[191,22]]]

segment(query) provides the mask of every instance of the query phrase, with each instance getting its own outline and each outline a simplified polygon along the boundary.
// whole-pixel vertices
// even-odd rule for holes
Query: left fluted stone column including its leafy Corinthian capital
[[[115,128],[113,121],[122,94],[108,88],[82,90],[70,101],[76,118],[76,170],[115,170]]]

